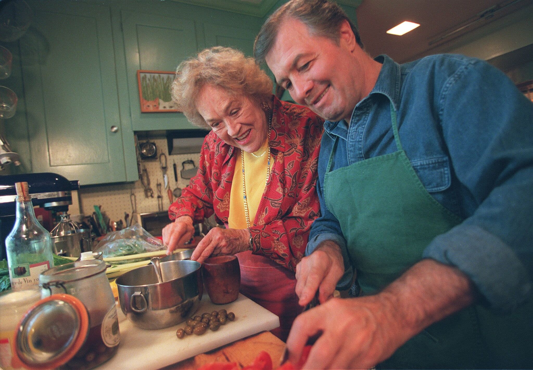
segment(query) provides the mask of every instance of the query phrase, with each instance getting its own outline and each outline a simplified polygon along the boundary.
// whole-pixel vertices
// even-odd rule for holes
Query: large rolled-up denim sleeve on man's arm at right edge
[[[455,176],[477,207],[423,256],[458,267],[487,306],[509,312],[532,292],[533,104],[482,61],[451,76],[440,103]]]

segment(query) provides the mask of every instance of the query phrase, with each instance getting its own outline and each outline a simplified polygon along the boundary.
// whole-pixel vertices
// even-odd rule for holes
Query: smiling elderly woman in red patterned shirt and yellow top
[[[198,174],[169,208],[163,229],[167,253],[213,213],[215,227],[191,259],[236,254],[241,293],[280,317],[273,333],[285,340],[301,312],[296,264],[312,221],[322,120],[272,95],[272,81],[252,58],[213,47],[179,65],[174,102],[192,124],[209,128]]]

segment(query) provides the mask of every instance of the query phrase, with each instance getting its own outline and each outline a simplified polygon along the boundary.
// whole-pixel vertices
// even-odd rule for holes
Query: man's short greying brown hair
[[[301,21],[309,28],[311,34],[327,37],[337,44],[340,40],[341,23],[347,20],[357,43],[363,48],[356,26],[336,3],[327,0],[291,0],[270,15],[255,38],[254,56],[258,63],[265,61],[266,55],[276,42],[280,24],[287,18]]]

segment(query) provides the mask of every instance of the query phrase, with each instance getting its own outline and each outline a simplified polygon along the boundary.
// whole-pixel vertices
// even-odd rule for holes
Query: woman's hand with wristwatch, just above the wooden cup
[[[251,249],[248,229],[222,229],[214,227],[196,246],[191,260],[204,262],[209,256],[235,254]]]

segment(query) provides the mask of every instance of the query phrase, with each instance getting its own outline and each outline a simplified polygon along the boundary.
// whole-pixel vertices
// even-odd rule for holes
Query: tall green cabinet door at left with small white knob
[[[30,6],[20,48],[32,171],[81,185],[125,181],[109,7]]]

